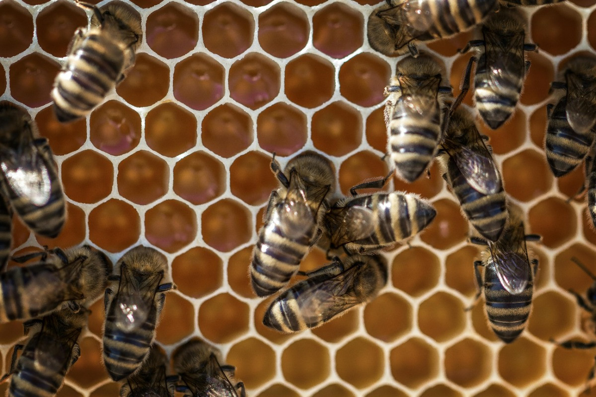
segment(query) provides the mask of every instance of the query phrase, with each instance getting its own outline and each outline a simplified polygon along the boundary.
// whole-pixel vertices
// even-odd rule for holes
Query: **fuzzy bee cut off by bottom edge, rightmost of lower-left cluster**
[[[184,397],[246,397],[244,383],[234,379],[232,365],[222,365],[214,346],[194,337],[172,354],[173,367],[182,385],[176,391]]]

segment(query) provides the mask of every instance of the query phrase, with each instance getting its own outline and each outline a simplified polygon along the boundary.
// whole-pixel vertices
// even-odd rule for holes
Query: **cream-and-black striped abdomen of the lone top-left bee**
[[[107,34],[87,32],[75,42],[51,93],[58,120],[84,117],[116,86],[125,57],[113,39]]]

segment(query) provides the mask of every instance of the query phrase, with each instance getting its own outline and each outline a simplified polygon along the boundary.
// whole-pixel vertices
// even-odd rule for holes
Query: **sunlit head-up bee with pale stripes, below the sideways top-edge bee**
[[[389,95],[385,106],[385,124],[389,127],[387,151],[395,163],[396,174],[406,182],[418,179],[434,158],[452,96],[446,76],[439,61],[421,54],[399,61],[396,76],[385,89]]]

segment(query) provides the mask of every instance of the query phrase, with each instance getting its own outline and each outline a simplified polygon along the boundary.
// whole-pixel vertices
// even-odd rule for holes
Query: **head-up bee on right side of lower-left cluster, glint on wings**
[[[105,289],[103,358],[113,380],[139,368],[149,354],[166,294],[174,286],[162,283],[166,257],[156,249],[137,246],[116,262]]]

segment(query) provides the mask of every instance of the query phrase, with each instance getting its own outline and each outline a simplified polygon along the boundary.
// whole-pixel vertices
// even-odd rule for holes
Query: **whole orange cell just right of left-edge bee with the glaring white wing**
[[[114,167],[98,152],[85,150],[62,163],[64,193],[74,201],[93,203],[110,195]]]

